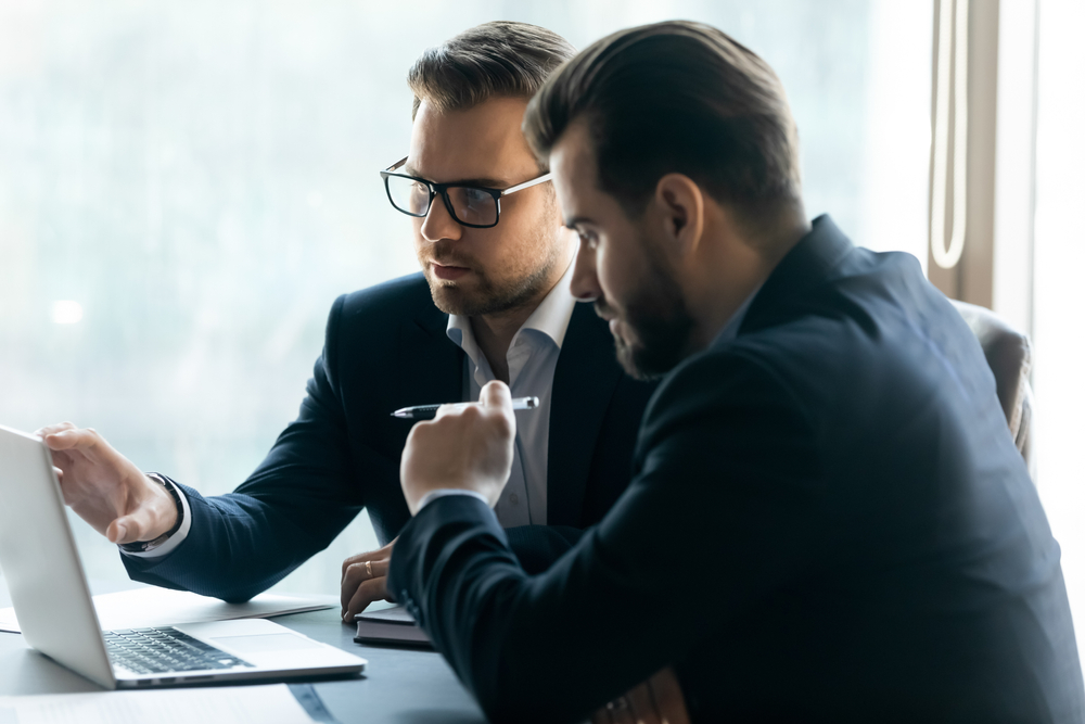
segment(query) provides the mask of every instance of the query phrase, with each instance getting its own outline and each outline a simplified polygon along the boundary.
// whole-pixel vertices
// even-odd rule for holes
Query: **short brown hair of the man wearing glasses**
[[[494,97],[528,99],[575,54],[567,40],[537,25],[509,21],[476,25],[414,61],[407,73],[414,93],[411,118],[423,100],[441,111],[457,111]]]

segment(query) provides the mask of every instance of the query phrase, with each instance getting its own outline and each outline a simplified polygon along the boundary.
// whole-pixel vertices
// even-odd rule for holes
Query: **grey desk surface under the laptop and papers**
[[[130,586],[112,586],[113,589]],[[93,585],[94,593],[110,586]],[[0,608],[11,606],[0,577]],[[375,646],[353,640],[339,609],[272,619],[306,636],[369,660],[360,677],[305,679],[314,684],[328,710],[342,723],[468,724],[484,722],[482,710],[439,653]],[[64,625],[59,621],[56,625]],[[292,679],[302,681],[302,679]],[[267,682],[265,682],[267,683]],[[98,686],[28,648],[18,634],[0,632],[0,695],[99,691]]]

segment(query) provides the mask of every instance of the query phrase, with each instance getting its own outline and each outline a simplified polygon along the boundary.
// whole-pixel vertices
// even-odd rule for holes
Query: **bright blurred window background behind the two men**
[[[335,296],[417,269],[376,174],[406,153],[405,75],[426,47],[490,20],[577,47],[674,17],[723,28],[783,80],[809,215],[927,269],[937,8],[0,0],[0,423],[72,420],[205,494],[241,483],[294,417]],[[1072,0],[1001,8],[995,40],[1027,59],[1000,61],[1029,90],[999,97],[1029,118],[1024,161],[1005,174],[1027,204],[1024,262],[996,269],[1008,281],[986,304],[1014,300],[1006,313],[1035,339],[1037,480],[1076,602],[1085,13]],[[115,547],[75,528],[90,575],[126,579]],[[337,593],[342,559],[375,545],[361,516],[275,589]]]

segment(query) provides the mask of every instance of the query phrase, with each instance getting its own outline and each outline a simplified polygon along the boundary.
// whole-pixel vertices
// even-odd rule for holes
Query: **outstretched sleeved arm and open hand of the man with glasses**
[[[190,532],[168,555],[123,555],[133,580],[246,600],[327,547],[361,510],[366,504],[362,486],[352,484],[357,470],[384,468],[394,474],[395,460],[367,448],[352,449],[348,443],[335,367],[343,301],[340,297],[332,307],[324,352],[297,419],[233,493],[204,497],[179,486],[191,513]],[[168,499],[165,508],[173,515],[173,499],[97,433],[71,430],[46,436],[46,441],[62,470],[66,501],[111,541],[145,541],[169,530],[173,519],[156,512],[151,504],[161,508]],[[73,450],[62,449],[64,445],[81,446],[79,465]],[[157,493],[157,498],[148,497],[143,486]],[[146,505],[141,503],[144,498]],[[124,503],[114,505],[116,500]],[[116,521],[127,524],[125,535],[110,534]]]

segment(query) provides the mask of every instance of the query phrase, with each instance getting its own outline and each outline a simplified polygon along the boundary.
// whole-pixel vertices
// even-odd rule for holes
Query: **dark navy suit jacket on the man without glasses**
[[[1082,721],[1059,546],[914,257],[816,220],[663,381],[635,470],[540,575],[476,499],[404,530],[390,585],[493,720],[583,719],[673,665],[701,722]]]

